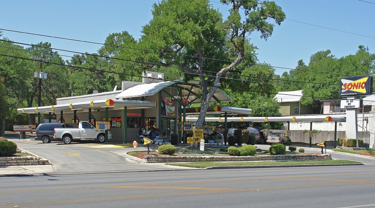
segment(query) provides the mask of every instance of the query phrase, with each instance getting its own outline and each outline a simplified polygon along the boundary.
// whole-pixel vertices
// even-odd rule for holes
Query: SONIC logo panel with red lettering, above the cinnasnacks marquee
[[[372,75],[350,76],[340,79],[340,96],[372,94]]]

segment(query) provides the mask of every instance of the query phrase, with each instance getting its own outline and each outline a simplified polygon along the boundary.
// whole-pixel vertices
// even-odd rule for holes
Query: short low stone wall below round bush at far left
[[[50,165],[48,160],[34,156],[0,157],[0,166]]]

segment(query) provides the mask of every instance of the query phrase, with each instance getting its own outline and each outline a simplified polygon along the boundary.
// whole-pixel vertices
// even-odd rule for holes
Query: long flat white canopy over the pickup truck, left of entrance
[[[127,107],[127,109],[140,109],[140,108],[156,108],[156,102],[142,101],[142,100],[93,100],[91,102],[80,102],[80,103],[70,103],[63,105],[50,105],[50,106],[40,106],[31,108],[18,108],[18,113],[27,114],[37,114],[37,113],[48,113],[48,112],[58,112],[62,110],[81,110],[89,108],[112,108],[119,109]]]

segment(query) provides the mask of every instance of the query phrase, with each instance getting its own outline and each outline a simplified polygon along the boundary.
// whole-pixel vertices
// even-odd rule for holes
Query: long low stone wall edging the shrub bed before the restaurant
[[[176,162],[236,162],[260,160],[332,160],[330,154],[314,155],[261,155],[261,156],[144,156],[146,163],[176,163]]]

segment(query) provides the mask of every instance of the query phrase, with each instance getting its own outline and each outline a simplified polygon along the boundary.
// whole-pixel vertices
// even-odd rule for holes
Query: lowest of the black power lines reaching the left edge
[[[5,56],[5,57],[20,58],[20,59],[23,59],[23,60],[35,61],[35,60],[31,59],[31,58],[17,57],[17,56],[6,55],[6,54],[0,54],[0,55],[1,56]],[[49,62],[49,64],[55,64],[55,65],[67,66],[67,67],[74,67],[74,68],[78,68],[78,69],[87,69],[87,70],[92,70],[92,71],[97,71],[97,72],[113,73],[113,74],[118,74],[118,75],[135,76],[135,77],[139,77],[139,78],[147,78],[147,77],[139,76],[139,75],[130,75],[130,74],[119,73],[119,72],[110,72],[110,71],[106,71],[106,70],[90,69],[90,68],[87,68],[87,67],[78,67],[78,66],[72,66],[72,65],[68,65],[68,64],[60,64],[60,63],[53,63],[53,62]],[[163,81],[171,81],[171,82],[175,82],[176,84],[189,84],[188,82],[181,82],[181,81],[168,80],[168,79],[163,79]],[[195,85],[203,86],[202,84],[195,84]],[[205,86],[206,87],[215,87],[213,85],[205,85]],[[272,93],[272,92],[263,92],[263,91],[255,91],[255,90],[244,90],[244,89],[221,87],[221,86],[220,87],[216,87],[216,88],[229,89],[229,90],[239,90],[239,91],[249,91],[249,92],[255,92],[255,93],[278,94],[278,93]],[[279,94],[281,94],[281,93],[279,93]],[[282,95],[289,95],[290,96],[290,94],[282,94]],[[311,96],[302,95],[302,97],[311,97]],[[315,97],[315,98],[336,99],[336,98],[332,98],[332,97]]]

